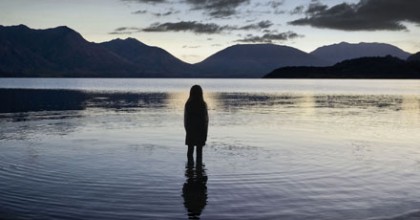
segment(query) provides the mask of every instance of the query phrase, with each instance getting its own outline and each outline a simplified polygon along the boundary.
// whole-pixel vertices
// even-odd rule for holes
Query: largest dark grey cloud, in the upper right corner
[[[360,0],[332,7],[312,1],[304,12],[306,17],[289,24],[346,31],[402,31],[407,30],[403,22],[420,24],[419,10],[418,0]]]

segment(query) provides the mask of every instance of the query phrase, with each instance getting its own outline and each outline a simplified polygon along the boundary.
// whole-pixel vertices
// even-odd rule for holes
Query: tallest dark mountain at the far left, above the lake
[[[136,71],[130,62],[64,26],[0,26],[0,56],[1,76],[115,77]]]

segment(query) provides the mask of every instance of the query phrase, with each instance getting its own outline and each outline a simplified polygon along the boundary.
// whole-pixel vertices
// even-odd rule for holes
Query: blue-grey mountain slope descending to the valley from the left
[[[100,45],[130,61],[149,75],[191,77],[196,74],[191,64],[179,60],[159,47],[148,46],[134,38],[115,39]]]

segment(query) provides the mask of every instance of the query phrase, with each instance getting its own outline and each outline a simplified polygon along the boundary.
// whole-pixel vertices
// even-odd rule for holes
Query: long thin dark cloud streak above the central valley
[[[196,34],[219,34],[224,31],[249,31],[264,30],[271,27],[271,21],[260,21],[255,24],[245,26],[236,25],[218,25],[216,23],[200,23],[196,21],[180,21],[154,23],[149,27],[142,29],[144,32],[193,32]]]

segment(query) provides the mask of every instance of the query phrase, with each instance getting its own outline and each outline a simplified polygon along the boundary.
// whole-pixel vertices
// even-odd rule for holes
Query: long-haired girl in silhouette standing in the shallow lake
[[[197,146],[197,161],[202,159],[203,146],[207,140],[208,122],[203,90],[199,85],[194,85],[191,87],[190,97],[185,103],[184,110],[184,127],[187,133],[185,145],[188,145],[188,159],[193,159],[194,146]]]

